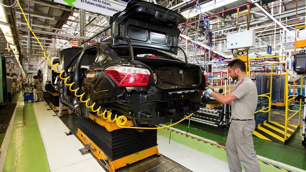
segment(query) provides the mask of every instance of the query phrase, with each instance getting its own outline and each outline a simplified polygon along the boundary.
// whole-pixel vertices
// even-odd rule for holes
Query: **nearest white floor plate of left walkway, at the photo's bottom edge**
[[[95,163],[96,161],[94,158],[87,159],[75,164],[71,164],[69,166],[65,166],[56,170],[53,170],[52,172],[62,172],[62,171],[72,171],[72,172],[84,172],[84,171],[90,171],[90,172],[101,172],[101,166],[98,163]]]

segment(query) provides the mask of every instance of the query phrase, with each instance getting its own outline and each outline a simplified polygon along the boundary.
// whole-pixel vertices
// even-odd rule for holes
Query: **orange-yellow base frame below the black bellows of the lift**
[[[91,149],[90,151],[97,157],[102,164],[108,168],[108,171],[115,172],[115,170],[128,166],[129,164],[135,163],[141,159],[145,159],[152,155],[160,155],[157,146],[154,146],[152,148],[148,148],[146,150],[125,156],[120,159],[116,159],[112,161],[109,157],[107,157],[104,152],[94,143],[92,142],[88,136],[86,136],[80,129],[78,129],[76,135],[82,140],[84,144],[90,144]],[[108,166],[108,165],[109,166]]]

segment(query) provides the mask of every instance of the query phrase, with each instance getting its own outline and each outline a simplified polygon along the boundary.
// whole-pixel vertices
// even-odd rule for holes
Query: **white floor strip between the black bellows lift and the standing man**
[[[169,144],[166,137],[157,135],[157,144],[159,153],[191,171],[230,171],[228,163],[173,140]]]

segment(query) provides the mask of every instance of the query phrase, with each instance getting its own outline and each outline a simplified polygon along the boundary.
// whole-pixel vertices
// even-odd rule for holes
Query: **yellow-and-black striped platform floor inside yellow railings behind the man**
[[[287,138],[285,139],[285,124],[279,122],[266,122],[257,125],[253,136],[269,140],[281,144],[286,144],[287,141],[294,135],[297,131],[298,126],[288,124],[287,125]]]

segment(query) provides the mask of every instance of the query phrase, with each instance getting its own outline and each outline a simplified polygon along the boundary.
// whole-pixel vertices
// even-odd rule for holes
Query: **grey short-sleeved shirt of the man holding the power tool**
[[[237,97],[232,101],[232,118],[254,119],[257,107],[257,88],[252,79],[248,76],[241,78],[231,93]]]

